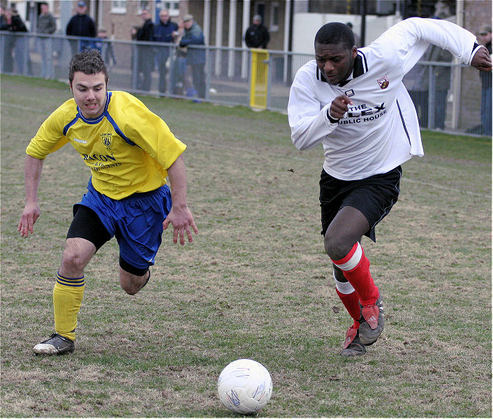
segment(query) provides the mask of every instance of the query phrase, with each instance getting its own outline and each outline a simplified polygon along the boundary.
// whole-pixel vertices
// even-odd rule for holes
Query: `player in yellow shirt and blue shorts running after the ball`
[[[111,237],[119,244],[120,285],[133,295],[149,281],[163,229],[172,224],[173,242],[182,245],[185,235],[193,241],[191,230],[198,233],[186,204],[186,146],[137,98],[107,91],[108,71],[97,50],[74,54],[68,80],[73,99],[43,122],[27,146],[26,205],[17,226],[22,237],[33,233],[41,214],[43,161],[70,142],[91,168],[91,178],[73,207],[53,289],[55,332],[34,346],[35,353],[45,355],[74,350],[84,267]]]

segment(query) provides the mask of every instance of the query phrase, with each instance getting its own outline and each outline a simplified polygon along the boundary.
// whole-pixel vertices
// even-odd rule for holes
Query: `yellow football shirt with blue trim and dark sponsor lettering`
[[[85,118],[73,98],[66,101],[43,122],[26,152],[45,159],[68,142],[91,168],[96,191],[117,200],[165,184],[167,169],[186,148],[163,119],[124,91],[108,91],[105,110],[94,119]]]

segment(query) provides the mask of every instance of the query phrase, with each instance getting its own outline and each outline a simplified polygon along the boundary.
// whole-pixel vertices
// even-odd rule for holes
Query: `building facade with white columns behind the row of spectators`
[[[66,24],[75,13],[78,0],[45,0],[57,20],[58,33],[64,34]],[[154,22],[159,10],[167,8],[172,20],[178,22],[191,13],[202,27],[207,45],[244,47],[244,33],[253,15],[263,17],[270,33],[270,50],[293,51],[293,39],[303,31],[316,28],[296,26],[296,15],[314,17],[314,23],[326,19],[353,23],[358,36],[371,42],[396,20],[411,16],[432,17],[437,9],[445,8],[456,15],[457,23],[475,32],[481,24],[491,23],[490,0],[85,0],[88,13],[96,27],[106,29],[112,39],[131,40],[132,27],[142,24],[140,12],[148,8]],[[29,31],[35,31],[41,1],[0,0],[3,8],[15,6]],[[365,18],[362,16],[365,15]],[[383,22],[375,29],[376,19]],[[365,25],[365,22],[370,22]],[[306,20],[304,20],[306,22]],[[370,26],[370,27],[368,27]],[[372,31],[373,30],[373,31]],[[294,51],[303,52],[303,51]]]

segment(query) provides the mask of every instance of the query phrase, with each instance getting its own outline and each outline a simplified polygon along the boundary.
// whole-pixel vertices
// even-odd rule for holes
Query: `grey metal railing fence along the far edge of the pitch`
[[[244,48],[191,45],[183,51],[167,43],[0,31],[0,73],[66,82],[68,61],[73,52],[91,47],[101,50],[108,64],[110,89],[223,105],[250,104],[252,52]],[[286,112],[295,73],[314,56],[269,50],[268,57],[265,108]],[[200,64],[199,61],[205,62]],[[413,97],[420,125],[449,128],[452,119],[450,74],[453,71],[436,70],[453,70],[458,64],[420,61],[416,68],[419,66],[425,68],[426,76],[419,80],[406,76],[404,84]],[[478,103],[477,113],[479,107]]]

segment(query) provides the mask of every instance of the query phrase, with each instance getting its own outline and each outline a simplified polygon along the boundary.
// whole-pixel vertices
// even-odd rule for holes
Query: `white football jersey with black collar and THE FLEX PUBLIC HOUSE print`
[[[349,81],[329,84],[309,61],[293,80],[288,103],[291,139],[297,149],[323,144],[323,168],[341,180],[388,172],[422,156],[418,117],[402,84],[429,44],[470,65],[476,36],[445,20],[411,17],[358,50]],[[343,118],[329,119],[330,104],[346,94],[353,101]]]

